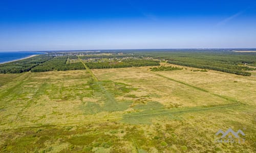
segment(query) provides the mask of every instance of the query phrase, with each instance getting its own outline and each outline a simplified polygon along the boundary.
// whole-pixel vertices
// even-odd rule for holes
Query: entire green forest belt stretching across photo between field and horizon
[[[138,66],[159,66],[159,61],[165,60],[170,64],[189,66],[202,69],[211,69],[227,73],[250,76],[250,66],[256,66],[256,53],[238,53],[218,49],[163,49],[163,50],[127,50],[123,55],[92,54],[79,56],[80,59],[102,59],[98,62],[85,63],[89,68],[121,68]],[[81,62],[74,62],[78,53],[49,53],[29,59],[0,64],[0,73],[21,73],[26,71],[43,72],[52,70],[85,69]],[[57,56],[56,55],[61,55]],[[124,59],[127,57],[127,59]],[[151,57],[155,60],[147,60]],[[108,61],[108,58],[113,58]],[[120,60],[119,60],[120,59]],[[122,60],[123,59],[123,60]],[[73,62],[72,62],[73,61]],[[154,68],[153,71],[173,68]]]

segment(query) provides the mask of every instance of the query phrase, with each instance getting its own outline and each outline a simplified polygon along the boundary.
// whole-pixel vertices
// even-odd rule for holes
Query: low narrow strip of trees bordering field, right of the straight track
[[[123,67],[139,67],[139,66],[159,66],[159,61],[142,60],[142,59],[129,59],[122,60],[121,62],[88,62],[86,65],[90,69],[100,68],[123,68]]]

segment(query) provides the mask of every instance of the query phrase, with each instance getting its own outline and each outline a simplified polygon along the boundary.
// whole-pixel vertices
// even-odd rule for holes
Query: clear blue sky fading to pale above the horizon
[[[253,48],[256,1],[0,1],[0,50]]]

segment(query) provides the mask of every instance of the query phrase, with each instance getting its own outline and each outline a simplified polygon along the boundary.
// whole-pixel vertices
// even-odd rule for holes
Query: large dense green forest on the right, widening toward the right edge
[[[255,53],[235,53],[216,50],[182,50],[180,52],[140,52],[138,56],[167,60],[167,63],[182,66],[212,69],[227,73],[250,76],[247,65],[256,66]]]

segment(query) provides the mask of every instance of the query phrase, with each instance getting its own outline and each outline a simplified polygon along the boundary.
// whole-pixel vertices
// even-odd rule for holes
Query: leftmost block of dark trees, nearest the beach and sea
[[[38,55],[24,60],[14,61],[10,63],[0,64],[0,73],[22,73],[30,71],[33,67],[44,63],[52,56],[49,55]]]

